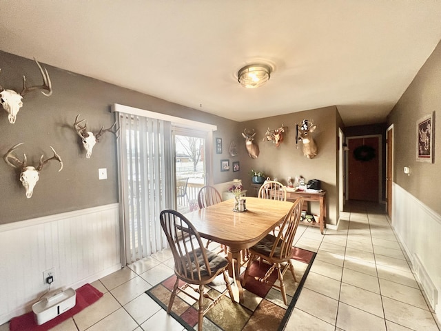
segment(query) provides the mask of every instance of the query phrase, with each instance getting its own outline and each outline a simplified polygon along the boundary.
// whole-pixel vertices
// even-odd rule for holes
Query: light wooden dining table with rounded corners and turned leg
[[[185,214],[201,237],[227,245],[229,275],[236,283],[240,302],[244,299],[239,278],[241,250],[252,247],[276,228],[293,203],[247,197],[246,205],[245,212],[234,212],[234,199],[229,199]]]

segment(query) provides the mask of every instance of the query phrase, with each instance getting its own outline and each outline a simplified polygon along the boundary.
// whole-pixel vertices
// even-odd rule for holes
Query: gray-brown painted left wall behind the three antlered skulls
[[[78,113],[88,120],[92,131],[111,126],[114,114],[110,106],[120,103],[217,125],[214,137],[223,137],[224,141],[237,132],[235,121],[41,64],[48,69],[54,92],[51,97],[40,92],[26,94],[14,124],[0,109],[0,154],[3,157],[9,148],[24,142],[17,157],[22,159],[25,152],[28,164],[38,165],[41,154],[52,156],[53,146],[64,161],[64,169],[58,172],[59,164],[54,161],[45,165],[32,198],[27,199],[19,172],[1,161],[0,224],[118,202],[116,139],[113,134],[105,134],[92,157],[85,159],[79,136],[72,128]],[[0,68],[3,88],[21,91],[23,74],[29,85],[42,82],[37,65],[30,59],[0,51]],[[236,172],[219,171],[220,159],[226,158],[226,153],[227,148],[224,154],[214,154],[214,183],[236,177]],[[99,181],[99,168],[107,168],[107,180]]]

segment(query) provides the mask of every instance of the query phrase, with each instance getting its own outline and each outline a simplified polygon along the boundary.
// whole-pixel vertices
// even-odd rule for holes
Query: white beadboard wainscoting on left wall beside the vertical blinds
[[[79,288],[121,268],[119,204],[0,225],[0,325],[48,290]]]

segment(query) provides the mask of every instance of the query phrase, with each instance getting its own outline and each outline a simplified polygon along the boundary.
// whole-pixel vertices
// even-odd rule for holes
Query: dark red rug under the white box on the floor
[[[37,325],[34,319],[34,312],[28,312],[19,317],[14,317],[10,321],[9,330],[10,331],[47,331],[50,328],[54,328],[55,325],[69,319],[78,312],[81,312],[88,305],[98,301],[99,298],[103,297],[103,293],[96,290],[92,285],[85,284],[81,288],[76,289],[76,303],[73,308],[63,314],[43,323]]]

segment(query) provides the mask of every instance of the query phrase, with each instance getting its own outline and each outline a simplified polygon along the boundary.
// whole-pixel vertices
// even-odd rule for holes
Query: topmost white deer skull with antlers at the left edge
[[[19,112],[21,106],[23,106],[23,101],[21,99],[23,96],[33,90],[46,90],[47,93],[41,91],[46,97],[52,94],[52,83],[50,82],[48,70],[46,68],[41,68],[40,63],[34,59],[35,63],[40,69],[41,76],[43,77],[43,85],[39,86],[26,86],[26,77],[23,75],[23,90],[15,92],[14,90],[6,90],[3,86],[0,86],[0,103],[3,109],[8,112],[9,123],[14,124],[15,119],[17,119],[17,113]]]

